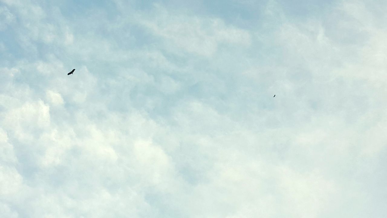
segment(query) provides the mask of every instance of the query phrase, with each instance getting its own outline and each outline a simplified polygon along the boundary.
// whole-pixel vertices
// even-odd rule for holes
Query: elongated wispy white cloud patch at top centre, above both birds
[[[160,5],[155,5],[152,14],[137,16],[139,24],[153,34],[166,40],[167,46],[177,46],[187,52],[211,57],[222,44],[250,45],[248,31],[227,26],[220,19],[189,17],[170,14]]]

